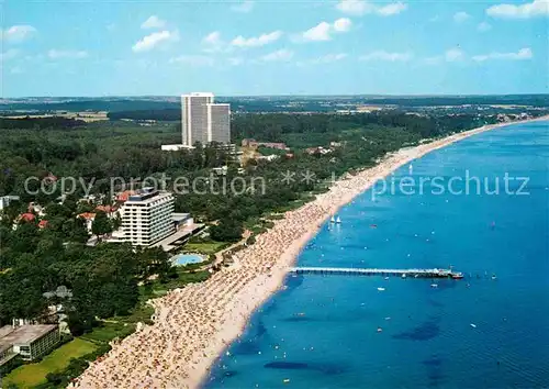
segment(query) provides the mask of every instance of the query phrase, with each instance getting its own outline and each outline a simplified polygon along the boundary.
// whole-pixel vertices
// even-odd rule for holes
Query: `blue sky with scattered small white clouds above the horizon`
[[[0,5],[2,97],[547,93],[549,3]]]

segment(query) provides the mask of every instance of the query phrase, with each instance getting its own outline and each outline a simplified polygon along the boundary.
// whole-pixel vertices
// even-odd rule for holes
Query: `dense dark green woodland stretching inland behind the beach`
[[[254,221],[295,207],[311,193],[324,190],[332,177],[371,166],[388,152],[415,145],[423,138],[494,120],[467,114],[421,116],[397,111],[356,115],[235,115],[232,123],[235,143],[254,137],[285,142],[292,148],[292,156],[281,156],[271,163],[251,162],[244,175],[215,147],[160,152],[161,144],[179,141],[179,124],[175,122],[139,126],[120,121],[89,124],[70,120],[4,120],[0,127],[0,196],[19,194],[22,201],[10,205],[0,221],[0,324],[9,323],[12,318],[40,316],[53,302],[43,293],[67,286],[74,293],[67,302],[69,325],[74,334],[79,334],[90,330],[96,318],[131,310],[139,298],[138,284],[148,282],[150,275],[159,275],[160,280],[173,276],[167,254],[161,251],[134,252],[128,245],[104,243],[86,246],[88,233],[76,219],[79,212],[87,211],[87,205],[78,202],[83,191],[57,204],[59,190],[36,196],[25,192],[23,184],[30,176],[82,177],[93,180],[92,192],[109,193],[111,177],[128,179],[161,174],[189,179],[214,177],[213,167],[228,165],[227,180],[239,176],[251,187],[261,177],[265,187],[244,194],[223,193],[223,180],[214,177],[213,188],[220,191],[212,192],[208,186],[210,190],[205,193],[178,196],[176,211],[191,212],[198,221],[214,222],[211,237],[234,242]],[[327,147],[329,142],[341,145],[327,155],[304,152],[311,146]],[[282,173],[288,170],[309,170],[315,180],[298,179],[284,185]],[[13,230],[16,216],[26,211],[30,201],[46,207],[47,226],[38,229],[36,221],[32,221]],[[98,234],[109,230],[97,229]]]

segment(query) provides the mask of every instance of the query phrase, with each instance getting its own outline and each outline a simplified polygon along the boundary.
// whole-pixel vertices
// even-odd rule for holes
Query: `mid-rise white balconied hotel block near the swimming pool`
[[[145,188],[131,194],[120,209],[121,238],[136,246],[149,246],[175,231],[173,196]]]

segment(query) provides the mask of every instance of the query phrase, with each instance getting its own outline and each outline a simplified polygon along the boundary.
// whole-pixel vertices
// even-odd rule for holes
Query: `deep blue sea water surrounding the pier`
[[[423,194],[416,186],[413,196],[372,199],[370,190],[341,208],[343,223],[326,223],[298,259],[300,266],[452,265],[466,279],[289,276],[288,288],[253,315],[203,386],[549,388],[548,125],[482,133],[393,177],[440,176],[447,186],[469,175],[481,185],[485,178],[490,191],[498,177],[500,194],[477,194],[473,181],[468,196],[434,194],[428,184]],[[528,177],[529,194],[505,193],[506,173]],[[452,186],[466,189],[457,179]],[[519,186],[513,180],[509,189]]]

